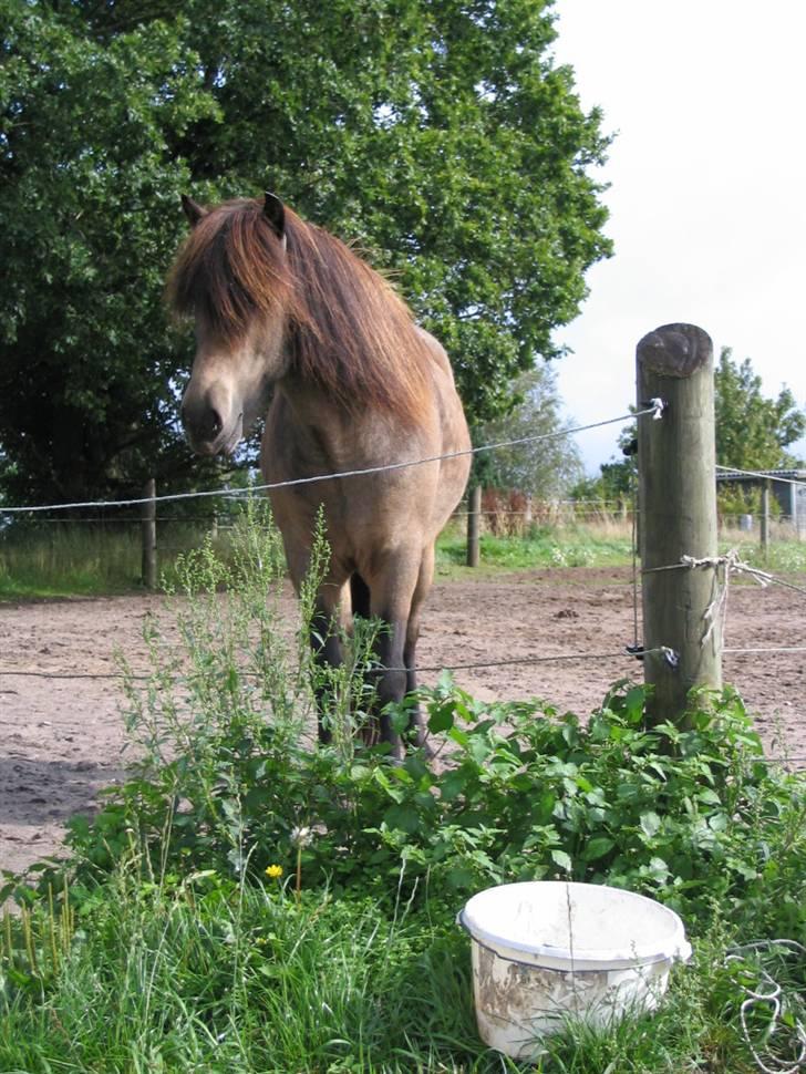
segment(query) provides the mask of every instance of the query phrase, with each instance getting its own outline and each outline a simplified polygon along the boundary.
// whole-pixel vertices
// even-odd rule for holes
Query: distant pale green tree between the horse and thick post
[[[582,463],[576,442],[564,431],[557,376],[549,365],[523,373],[516,382],[521,402],[506,416],[482,426],[485,444],[542,436],[514,444],[479,458],[477,479],[496,488],[517,489],[541,499],[562,496],[579,478]]]

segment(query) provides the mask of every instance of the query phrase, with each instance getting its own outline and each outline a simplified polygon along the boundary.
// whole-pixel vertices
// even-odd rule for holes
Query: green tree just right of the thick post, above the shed
[[[746,358],[741,365],[723,347],[714,370],[716,462],[737,469],[802,465],[786,448],[806,432],[806,411],[788,388],[777,399],[762,394],[762,379]]]

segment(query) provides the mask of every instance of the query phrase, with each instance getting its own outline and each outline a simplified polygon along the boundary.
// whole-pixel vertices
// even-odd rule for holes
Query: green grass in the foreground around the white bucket
[[[6,1074],[751,1074],[744,993],[716,922],[654,1015],[570,1025],[515,1063],[478,1039],[469,941],[416,912],[214,874],[144,884],[120,869],[65,953],[0,977]],[[18,959],[18,963],[23,960]],[[11,995],[9,999],[8,996]],[[757,1027],[756,1027],[757,1029]]]

